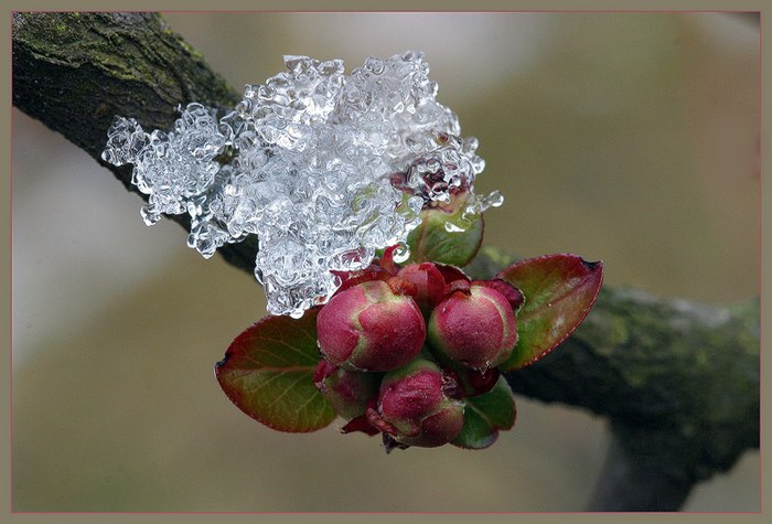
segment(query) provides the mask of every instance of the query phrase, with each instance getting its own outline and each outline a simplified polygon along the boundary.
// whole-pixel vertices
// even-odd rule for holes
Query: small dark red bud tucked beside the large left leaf
[[[369,400],[377,396],[380,376],[378,373],[344,370],[321,361],[313,382],[335,413],[351,420],[364,415]]]

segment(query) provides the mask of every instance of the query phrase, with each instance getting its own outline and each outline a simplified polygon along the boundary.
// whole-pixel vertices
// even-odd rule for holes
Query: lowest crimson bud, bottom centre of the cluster
[[[373,426],[404,446],[433,448],[453,440],[463,426],[463,404],[450,398],[449,377],[423,359],[387,373],[380,384]]]

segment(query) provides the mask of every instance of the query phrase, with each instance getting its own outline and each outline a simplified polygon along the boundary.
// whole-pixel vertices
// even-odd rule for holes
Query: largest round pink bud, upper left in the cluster
[[[426,339],[423,317],[410,297],[383,280],[335,295],[317,317],[319,347],[352,371],[392,371],[410,362]]]

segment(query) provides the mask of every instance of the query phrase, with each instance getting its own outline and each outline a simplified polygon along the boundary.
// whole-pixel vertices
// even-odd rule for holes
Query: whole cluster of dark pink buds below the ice
[[[317,318],[314,382],[343,432],[382,434],[394,448],[459,436],[465,399],[489,392],[517,342],[523,295],[435,263],[377,264],[345,274]]]

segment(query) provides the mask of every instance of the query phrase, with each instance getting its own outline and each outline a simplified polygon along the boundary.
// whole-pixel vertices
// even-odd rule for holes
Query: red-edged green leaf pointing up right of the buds
[[[497,275],[525,296],[517,312],[517,344],[502,371],[542,359],[585,320],[603,284],[603,263],[576,255],[546,255],[514,264]]]

